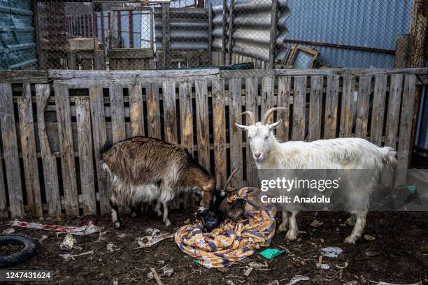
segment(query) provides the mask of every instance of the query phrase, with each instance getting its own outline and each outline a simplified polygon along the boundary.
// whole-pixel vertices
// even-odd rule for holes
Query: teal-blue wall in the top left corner
[[[30,1],[0,0],[0,69],[37,63]]]

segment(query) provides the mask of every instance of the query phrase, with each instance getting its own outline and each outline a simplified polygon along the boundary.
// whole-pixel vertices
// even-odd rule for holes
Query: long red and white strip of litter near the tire
[[[43,231],[56,231],[58,233],[71,233],[72,235],[90,235],[92,233],[97,233],[99,227],[92,224],[90,221],[85,226],[60,226],[60,225],[48,225],[48,224],[38,224],[38,223],[28,223],[27,221],[11,221],[10,226],[16,226],[19,228],[32,228],[34,230],[43,230]]]

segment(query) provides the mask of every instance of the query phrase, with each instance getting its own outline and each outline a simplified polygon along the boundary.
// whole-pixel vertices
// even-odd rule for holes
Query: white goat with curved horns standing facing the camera
[[[378,147],[362,138],[336,138],[331,140],[316,140],[313,142],[290,141],[279,142],[273,135],[281,120],[266,124],[269,116],[275,111],[286,108],[271,108],[266,111],[262,122],[255,122],[255,116],[247,111],[239,115],[248,115],[249,126],[236,124],[246,131],[252,156],[257,169],[368,169],[373,170],[369,183],[351,181],[352,187],[345,193],[348,205],[360,205],[360,210],[350,211],[352,216],[347,224],[354,224],[352,233],[345,239],[346,243],[355,244],[361,237],[366,226],[366,214],[369,209],[370,194],[376,186],[378,175],[385,165],[395,166],[394,149]],[[352,180],[352,177],[350,178]],[[361,186],[363,185],[363,186]],[[283,222],[279,231],[288,231],[287,240],[297,238],[297,211],[283,210]]]

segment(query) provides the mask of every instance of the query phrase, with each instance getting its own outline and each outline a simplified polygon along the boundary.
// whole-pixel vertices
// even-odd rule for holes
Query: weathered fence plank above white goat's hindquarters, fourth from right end
[[[370,88],[371,75],[359,76],[357,119],[355,121],[355,136],[357,138],[367,137],[367,124],[369,123]]]

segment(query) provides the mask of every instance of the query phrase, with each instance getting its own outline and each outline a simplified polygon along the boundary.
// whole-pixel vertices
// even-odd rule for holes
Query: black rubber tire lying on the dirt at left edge
[[[35,254],[37,247],[37,241],[24,233],[0,235],[0,245],[3,244],[22,244],[24,248],[7,256],[0,256],[0,268],[8,268],[27,261]]]

